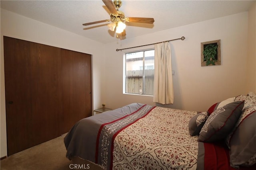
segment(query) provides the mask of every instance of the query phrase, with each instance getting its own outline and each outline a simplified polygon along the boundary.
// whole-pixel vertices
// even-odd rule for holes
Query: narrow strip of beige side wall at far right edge
[[[248,92],[256,92],[256,2],[248,12],[248,55],[247,55],[247,80]]]

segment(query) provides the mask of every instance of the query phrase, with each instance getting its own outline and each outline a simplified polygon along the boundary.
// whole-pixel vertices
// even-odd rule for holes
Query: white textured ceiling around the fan
[[[154,18],[154,24],[127,23],[126,39],[156,31],[248,11],[255,1],[246,0],[123,0],[120,11],[126,17]],[[106,26],[82,23],[109,19],[101,0],[1,0],[1,8],[84,37],[109,43],[118,41]]]

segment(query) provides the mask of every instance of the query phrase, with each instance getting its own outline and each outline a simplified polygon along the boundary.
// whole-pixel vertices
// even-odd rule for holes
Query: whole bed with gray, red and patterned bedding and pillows
[[[255,94],[205,112],[133,103],[78,121],[64,138],[66,157],[106,170],[256,169],[255,110]]]

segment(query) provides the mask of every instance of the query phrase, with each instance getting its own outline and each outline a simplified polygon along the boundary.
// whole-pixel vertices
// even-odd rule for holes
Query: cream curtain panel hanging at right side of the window
[[[173,104],[172,61],[169,42],[155,44],[153,102]]]

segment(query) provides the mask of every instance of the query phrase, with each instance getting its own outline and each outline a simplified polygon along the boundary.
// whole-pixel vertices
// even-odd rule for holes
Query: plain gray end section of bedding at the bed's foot
[[[66,157],[73,156],[97,162],[96,150],[98,131],[102,124],[109,123],[138,110],[144,104],[134,103],[78,121],[64,138]]]

